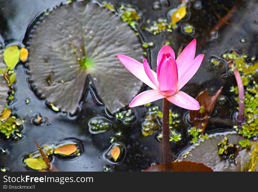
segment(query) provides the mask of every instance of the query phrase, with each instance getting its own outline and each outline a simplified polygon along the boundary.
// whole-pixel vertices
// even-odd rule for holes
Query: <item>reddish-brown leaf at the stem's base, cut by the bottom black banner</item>
[[[210,167],[207,167],[203,163],[196,163],[191,161],[180,161],[180,162],[172,162],[170,165],[153,165],[146,170],[143,171],[213,171]]]

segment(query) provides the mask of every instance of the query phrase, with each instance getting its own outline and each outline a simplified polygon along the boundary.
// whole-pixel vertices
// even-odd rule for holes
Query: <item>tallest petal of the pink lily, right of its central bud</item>
[[[196,50],[196,39],[193,39],[191,43],[189,43],[182,53],[176,58],[177,68],[178,68],[178,77],[180,77],[185,73],[185,71],[189,70],[189,63],[192,63]]]

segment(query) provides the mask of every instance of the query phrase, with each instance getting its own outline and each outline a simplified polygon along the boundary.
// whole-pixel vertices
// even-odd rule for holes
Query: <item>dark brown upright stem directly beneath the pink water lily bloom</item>
[[[169,142],[169,106],[170,102],[163,99],[163,122],[162,122],[162,150],[164,164],[171,163],[171,152]]]

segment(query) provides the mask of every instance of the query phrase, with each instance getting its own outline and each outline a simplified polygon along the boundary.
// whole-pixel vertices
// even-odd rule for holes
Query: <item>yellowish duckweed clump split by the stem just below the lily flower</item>
[[[162,117],[163,113],[159,110],[158,106],[150,106],[142,122],[142,135],[153,135],[162,126]],[[179,122],[178,114],[172,113],[172,111],[169,110],[169,128],[172,129],[178,126]]]

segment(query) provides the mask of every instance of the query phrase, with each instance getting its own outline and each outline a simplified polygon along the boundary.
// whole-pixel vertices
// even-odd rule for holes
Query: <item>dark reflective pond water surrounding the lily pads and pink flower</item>
[[[61,2],[66,3],[66,1],[61,0],[0,0],[1,43],[7,45],[9,42],[15,41],[16,44],[26,45],[26,31],[30,23],[37,15],[47,9],[51,10]],[[147,23],[148,19],[150,19],[151,23],[157,18],[166,18],[167,12],[176,7],[180,1],[170,0],[169,6],[161,6],[160,10],[154,10],[153,4],[155,1],[149,0],[108,2],[113,2],[117,5],[131,4],[142,13],[138,32],[145,41],[152,41],[155,45],[150,50],[153,69],[156,68],[157,53],[165,41],[169,41],[169,45],[177,52],[181,45],[186,46],[192,39],[197,39],[196,55],[205,54],[205,58],[196,75],[184,86],[182,91],[196,97],[199,92],[207,89],[208,93],[213,95],[223,86],[221,96],[225,99],[226,104],[223,106],[220,103],[216,104],[206,132],[232,130],[232,125],[235,122],[232,118],[230,119],[230,116],[236,108],[236,103],[232,99],[234,95],[229,90],[236,82],[230,70],[227,70],[226,78],[225,75],[223,76],[223,74],[226,74],[227,69],[225,61],[222,68],[214,68],[209,65],[209,60],[212,56],[220,58],[222,53],[231,49],[248,53],[249,56],[257,55],[258,1],[190,1],[189,17],[180,21],[178,23],[179,27],[173,32],[163,32],[157,35],[142,30],[142,27],[149,25]],[[211,36],[212,28],[220,21],[215,12],[222,18],[227,14],[227,11],[218,6],[218,4],[229,10],[237,6],[237,11],[230,19],[231,25],[223,25],[218,30],[217,35],[213,34]],[[194,34],[187,35],[181,31],[181,26],[185,23],[195,27]],[[246,42],[240,42],[240,39],[246,39]],[[37,96],[36,91],[31,89],[30,75],[27,71],[28,68],[23,64],[16,66],[17,77],[14,85],[16,99],[10,104],[13,113],[25,121],[23,124],[24,139],[20,142],[14,142],[1,136],[0,148],[7,149],[9,155],[0,154],[0,167],[6,167],[10,171],[27,171],[28,169],[24,167],[22,159],[25,155],[37,149],[34,141],[41,145],[69,138],[77,139],[82,145],[83,152],[75,160],[68,161],[55,157],[54,165],[60,171],[102,171],[106,166],[111,171],[140,171],[147,169],[152,163],[162,163],[162,159],[160,159],[161,146],[156,139],[157,134],[145,137],[141,132],[141,123],[147,112],[147,107],[134,108],[137,120],[133,124],[125,125],[115,117],[108,118],[104,112],[105,107],[96,103],[89,91],[85,96],[85,101],[82,101],[80,105],[79,113],[76,115],[71,116],[62,112],[54,112],[47,107],[46,101]],[[28,98],[30,99],[29,105],[25,103]],[[160,108],[162,107],[161,100],[156,101],[155,104],[159,105]],[[187,116],[187,110],[175,105],[171,105],[171,109],[174,113],[179,114],[180,124],[176,129],[182,135],[181,141],[171,144],[172,157],[175,159],[190,144],[190,136],[186,134],[190,125],[183,120],[184,116]],[[48,120],[43,127],[34,125],[32,121],[33,116],[39,113]],[[92,117],[108,118],[112,121],[112,129],[101,134],[91,134],[88,121]],[[123,161],[112,164],[104,158],[104,153],[111,145],[110,138],[114,137],[118,132],[121,132],[121,135],[116,136],[117,142],[125,145],[126,154]]]

